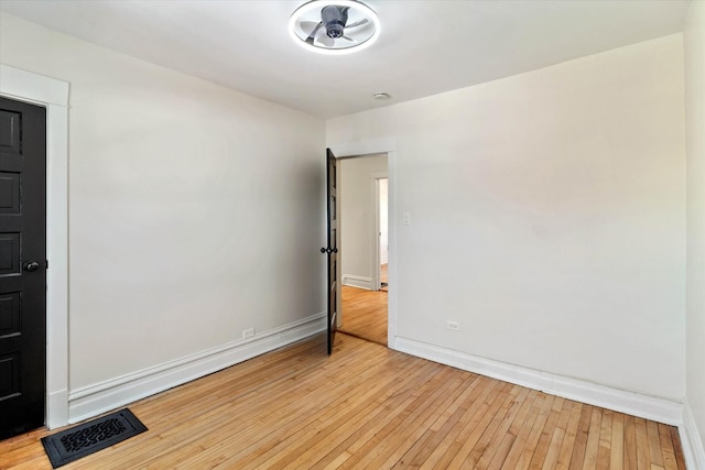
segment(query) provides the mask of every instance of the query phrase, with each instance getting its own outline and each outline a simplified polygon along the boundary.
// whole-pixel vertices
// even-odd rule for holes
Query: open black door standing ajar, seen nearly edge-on
[[[336,242],[336,230],[338,227],[336,217],[336,161],[335,155],[330,152],[330,149],[326,150],[326,204],[328,206],[328,245],[321,249],[322,253],[328,255],[328,354],[333,352],[333,341],[335,339],[335,331],[338,328],[338,245]]]

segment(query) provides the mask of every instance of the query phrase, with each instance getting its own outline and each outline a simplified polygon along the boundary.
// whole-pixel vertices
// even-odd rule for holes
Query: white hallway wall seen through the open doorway
[[[343,283],[371,288],[375,175],[387,173],[387,154],[338,161],[340,175],[340,271]]]

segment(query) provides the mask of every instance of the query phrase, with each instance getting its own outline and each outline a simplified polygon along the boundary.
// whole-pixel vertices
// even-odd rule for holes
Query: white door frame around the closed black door
[[[0,95],[46,108],[46,426],[68,423],[68,83],[0,64]]]

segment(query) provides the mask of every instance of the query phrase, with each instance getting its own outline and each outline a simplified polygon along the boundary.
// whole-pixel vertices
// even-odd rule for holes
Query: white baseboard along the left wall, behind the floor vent
[[[326,314],[198,352],[175,361],[72,391],[68,423],[77,423],[191,382],[326,329]]]

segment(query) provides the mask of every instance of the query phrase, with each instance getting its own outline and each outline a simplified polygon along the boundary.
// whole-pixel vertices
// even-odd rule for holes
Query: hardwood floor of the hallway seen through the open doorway
[[[386,291],[341,287],[343,325],[339,330],[358,338],[387,346]]]

